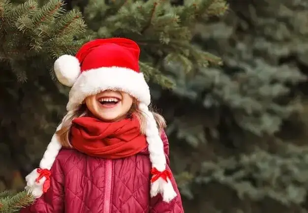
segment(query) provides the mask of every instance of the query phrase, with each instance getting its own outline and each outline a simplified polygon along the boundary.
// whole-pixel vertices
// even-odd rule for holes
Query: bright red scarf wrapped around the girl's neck
[[[72,121],[70,143],[78,151],[94,157],[122,158],[147,147],[136,117],[119,122],[102,122],[92,117]]]

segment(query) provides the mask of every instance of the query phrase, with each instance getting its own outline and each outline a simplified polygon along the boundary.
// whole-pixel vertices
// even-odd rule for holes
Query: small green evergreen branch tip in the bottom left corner
[[[0,213],[15,213],[21,208],[31,205],[34,200],[31,193],[26,190],[10,197],[0,198]]]

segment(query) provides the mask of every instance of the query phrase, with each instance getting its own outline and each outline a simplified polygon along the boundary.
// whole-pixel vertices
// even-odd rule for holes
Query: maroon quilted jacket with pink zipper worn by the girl
[[[166,134],[161,138],[169,164]],[[174,178],[174,200],[150,198],[150,170],[147,149],[115,160],[62,149],[51,168],[50,188],[21,213],[184,213]]]

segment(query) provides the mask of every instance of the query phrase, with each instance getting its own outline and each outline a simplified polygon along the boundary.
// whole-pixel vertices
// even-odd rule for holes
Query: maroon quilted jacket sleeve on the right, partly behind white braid
[[[164,143],[164,150],[165,150],[165,155],[166,155],[166,159],[167,159],[167,168],[166,169],[170,170],[170,167],[169,167],[169,142],[168,142],[168,138],[167,138],[165,132],[162,132],[161,139]],[[162,201],[162,197],[161,197],[160,194],[151,198],[150,213],[184,213],[181,194],[180,194],[177,183],[176,183],[173,176],[171,178],[171,183],[173,185],[174,190],[177,193],[177,196],[170,203],[166,203],[166,202]]]

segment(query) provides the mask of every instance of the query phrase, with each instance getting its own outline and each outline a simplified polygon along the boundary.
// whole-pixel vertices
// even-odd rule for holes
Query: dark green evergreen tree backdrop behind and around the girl
[[[141,46],[186,213],[308,213],[308,0],[11,2],[0,191],[23,190],[65,114],[56,57],[123,36]]]

